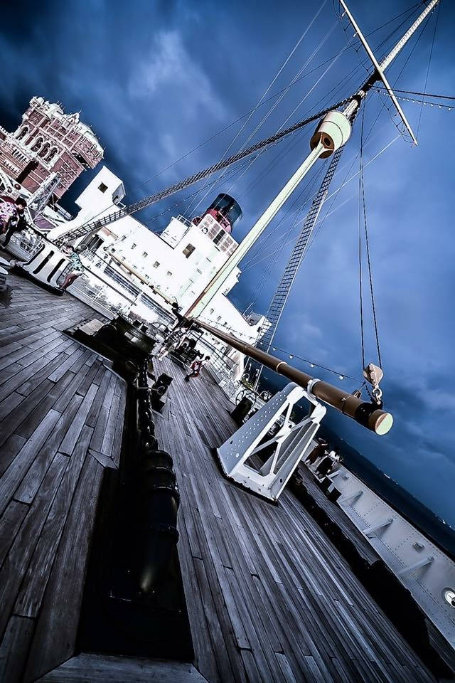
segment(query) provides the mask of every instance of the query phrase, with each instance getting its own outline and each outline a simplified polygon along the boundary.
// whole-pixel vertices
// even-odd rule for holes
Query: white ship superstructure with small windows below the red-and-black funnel
[[[109,213],[113,205],[122,206],[124,194],[122,180],[103,166],[77,197],[76,204],[80,211],[76,218],[51,230],[48,237],[61,237],[72,228]],[[108,282],[114,277],[117,290],[122,284],[112,270],[122,278],[127,278],[132,285],[140,287],[159,307],[171,310],[171,303],[177,302],[185,311],[237,248],[238,243],[230,234],[230,226],[223,221],[223,217],[219,220],[221,222],[217,220],[216,211],[206,212],[193,220],[175,216],[165,230],[157,235],[136,218],[124,216],[82,240],[95,254],[87,265],[94,270],[101,266],[103,278]],[[82,257],[82,260],[85,259]],[[255,313],[242,315],[227,297],[237,284],[240,272],[239,268],[232,271],[223,290],[215,295],[203,312],[202,319],[214,327],[232,332],[245,342],[255,344],[266,329],[264,316]],[[71,291],[76,294],[77,287]],[[137,297],[132,312],[149,321],[156,319],[156,311],[150,309],[141,297]],[[225,359],[230,378],[239,378],[243,371],[242,354],[207,333],[204,339],[208,353],[215,353],[218,361]]]

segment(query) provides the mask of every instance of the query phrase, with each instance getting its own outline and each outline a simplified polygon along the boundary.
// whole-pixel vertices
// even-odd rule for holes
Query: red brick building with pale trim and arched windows
[[[59,182],[59,199],[84,169],[94,169],[103,149],[79,114],[65,114],[58,104],[32,97],[13,133],[0,127],[0,169],[32,194],[50,174]]]

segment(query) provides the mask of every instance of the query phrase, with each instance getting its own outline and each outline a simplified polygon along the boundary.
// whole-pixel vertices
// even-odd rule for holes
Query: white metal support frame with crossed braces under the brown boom
[[[314,380],[311,386],[319,380]],[[291,411],[297,401],[306,398],[311,403],[309,414],[296,425],[291,423]],[[277,500],[292,473],[312,448],[312,440],[326,407],[309,391],[294,383],[275,394],[264,406],[247,420],[230,439],[217,449],[220,465],[227,477],[247,489],[267,498]],[[259,445],[269,429],[279,418],[284,422],[273,438]],[[264,448],[275,444],[272,455],[259,469],[247,465],[247,460]]]

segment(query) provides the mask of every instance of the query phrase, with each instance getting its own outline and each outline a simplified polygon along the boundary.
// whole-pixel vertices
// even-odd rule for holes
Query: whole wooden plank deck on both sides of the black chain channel
[[[63,334],[99,314],[14,275],[9,283],[11,300],[0,302],[0,679],[28,683],[65,660],[43,681],[105,680],[103,671],[125,683],[200,679],[192,667],[159,675],[143,662],[126,672],[113,657],[94,664],[75,651],[126,388],[107,361]],[[156,435],[178,478],[178,554],[203,677],[434,681],[294,494],[269,504],[220,474],[212,449],[236,428],[220,388],[207,374],[184,382],[169,359],[156,370],[173,376]]]

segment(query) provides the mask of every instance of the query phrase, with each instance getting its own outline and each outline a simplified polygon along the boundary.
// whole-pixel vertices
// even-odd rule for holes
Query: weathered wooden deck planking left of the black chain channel
[[[63,334],[94,317],[9,276],[0,300],[0,681],[75,650],[105,467],[119,465],[124,381]]]

